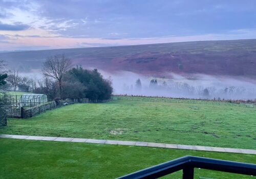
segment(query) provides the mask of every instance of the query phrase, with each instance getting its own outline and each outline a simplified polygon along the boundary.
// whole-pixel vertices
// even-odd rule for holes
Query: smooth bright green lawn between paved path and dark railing
[[[185,155],[253,163],[256,155],[0,139],[0,178],[116,178]],[[164,178],[181,178],[176,172]],[[251,176],[195,169],[195,178]]]

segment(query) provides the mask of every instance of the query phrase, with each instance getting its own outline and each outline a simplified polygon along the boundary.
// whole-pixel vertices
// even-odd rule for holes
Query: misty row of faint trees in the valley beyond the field
[[[149,82],[149,83],[148,83]],[[145,84],[147,83],[147,84]],[[164,79],[135,81],[135,86],[123,84],[122,94],[146,95],[146,96],[172,96],[185,98],[204,98],[204,99],[253,99],[255,89],[247,86],[225,86],[216,84],[215,86],[197,85],[201,83],[188,84],[183,81],[172,81],[168,83]]]

